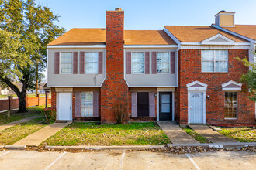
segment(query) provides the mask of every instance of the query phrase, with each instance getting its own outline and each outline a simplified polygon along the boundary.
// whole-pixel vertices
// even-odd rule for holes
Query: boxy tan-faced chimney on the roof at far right
[[[215,15],[215,25],[222,27],[234,27],[234,14],[235,12],[220,11]]]

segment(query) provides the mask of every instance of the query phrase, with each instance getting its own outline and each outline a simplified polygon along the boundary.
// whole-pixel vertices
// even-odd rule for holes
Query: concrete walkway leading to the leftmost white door
[[[33,145],[38,146],[42,141],[47,140],[50,136],[56,134],[58,131],[61,131],[62,128],[65,128],[68,124],[71,124],[71,121],[66,123],[54,123],[50,124],[47,127],[41,128],[39,131],[29,134],[26,138],[17,141],[14,145]]]

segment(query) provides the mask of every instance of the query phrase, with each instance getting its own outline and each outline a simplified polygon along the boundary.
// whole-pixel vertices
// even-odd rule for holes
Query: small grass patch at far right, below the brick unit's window
[[[256,142],[256,128],[223,128],[219,132],[240,142]]]

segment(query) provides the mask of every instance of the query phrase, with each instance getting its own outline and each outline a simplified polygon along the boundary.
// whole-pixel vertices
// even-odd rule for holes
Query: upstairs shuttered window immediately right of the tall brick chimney
[[[132,73],[145,73],[145,53],[132,53]]]

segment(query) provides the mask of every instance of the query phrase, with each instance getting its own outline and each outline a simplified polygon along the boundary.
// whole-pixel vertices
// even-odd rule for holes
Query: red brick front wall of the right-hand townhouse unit
[[[186,84],[198,80],[208,84],[206,95],[206,123],[229,124],[255,122],[254,102],[247,99],[247,94],[238,92],[237,120],[224,120],[224,91],[221,85],[230,80],[239,82],[240,76],[247,73],[247,68],[236,59],[247,57],[248,50],[232,49],[229,53],[228,73],[201,73],[201,50],[181,49],[178,53],[178,88],[175,92],[175,120],[180,124],[188,123],[188,90]],[[244,88],[244,86],[242,87]]]

